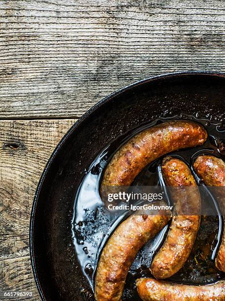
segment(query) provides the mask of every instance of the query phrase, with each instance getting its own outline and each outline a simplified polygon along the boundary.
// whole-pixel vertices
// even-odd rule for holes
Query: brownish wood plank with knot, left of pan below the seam
[[[0,300],[40,300],[29,257],[34,193],[51,152],[75,120],[0,121]],[[4,297],[32,292],[32,297]]]

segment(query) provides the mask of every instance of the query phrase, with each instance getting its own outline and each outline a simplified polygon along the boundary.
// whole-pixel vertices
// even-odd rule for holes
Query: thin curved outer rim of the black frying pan
[[[57,155],[59,149],[61,149],[61,147],[63,146],[63,144],[65,143],[65,141],[71,136],[71,134],[75,131],[75,129],[81,124],[83,123],[84,120],[86,120],[93,112],[95,112],[98,108],[100,108],[100,106],[102,106],[103,104],[111,101],[114,97],[116,97],[117,95],[130,90],[132,88],[135,88],[137,86],[140,86],[142,84],[151,82],[151,81],[155,81],[158,79],[162,79],[162,78],[169,78],[169,77],[176,77],[176,76],[183,76],[183,75],[210,75],[210,76],[216,76],[216,77],[220,77],[223,78],[225,77],[225,72],[217,72],[217,71],[195,71],[195,70],[190,70],[190,71],[176,71],[176,72],[170,72],[170,73],[163,73],[160,75],[156,75],[156,76],[151,76],[148,78],[145,78],[143,80],[139,80],[136,81],[130,85],[127,85],[111,94],[109,94],[108,96],[104,97],[103,99],[101,99],[98,103],[96,103],[93,107],[91,107],[87,112],[85,112],[72,126],[71,128],[67,131],[67,133],[62,137],[62,139],[60,140],[60,142],[58,143],[58,145],[55,147],[54,151],[52,152],[52,154],[50,155],[50,158],[42,172],[42,175],[40,177],[40,180],[38,182],[35,194],[34,194],[34,199],[33,199],[33,204],[32,204],[32,208],[31,208],[31,213],[30,213],[30,223],[29,223],[29,253],[30,253],[30,261],[31,261],[31,267],[32,267],[32,272],[34,275],[34,280],[39,292],[39,295],[41,297],[42,301],[47,301],[47,299],[45,298],[44,292],[42,290],[41,287],[41,283],[38,277],[38,273],[37,273],[37,269],[36,269],[36,264],[35,264],[35,255],[34,255],[34,242],[33,242],[33,230],[34,230],[34,219],[35,219],[35,211],[36,211],[36,207],[37,207],[37,202],[38,202],[38,198],[39,198],[39,194],[42,188],[42,184],[45,180],[45,177],[50,169],[50,166],[55,158],[55,156]]]

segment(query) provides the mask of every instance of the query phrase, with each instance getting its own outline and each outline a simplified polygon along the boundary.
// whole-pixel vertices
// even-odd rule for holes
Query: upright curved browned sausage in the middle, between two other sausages
[[[168,278],[180,270],[190,255],[200,227],[200,193],[190,169],[183,161],[166,157],[162,174],[171,188],[176,214],[167,238],[151,264],[150,270],[156,279]],[[184,215],[191,214],[189,212],[199,215]]]

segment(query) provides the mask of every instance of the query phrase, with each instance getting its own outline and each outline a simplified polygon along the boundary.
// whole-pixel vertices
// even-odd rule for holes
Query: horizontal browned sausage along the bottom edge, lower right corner
[[[137,291],[143,301],[224,301],[225,280],[208,285],[184,285],[140,278]]]

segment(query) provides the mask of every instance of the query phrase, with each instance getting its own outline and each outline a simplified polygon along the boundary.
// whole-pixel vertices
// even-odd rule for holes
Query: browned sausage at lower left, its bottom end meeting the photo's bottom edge
[[[170,218],[169,215],[131,215],[120,224],[100,256],[95,280],[97,301],[121,300],[126,275],[137,252]]]

